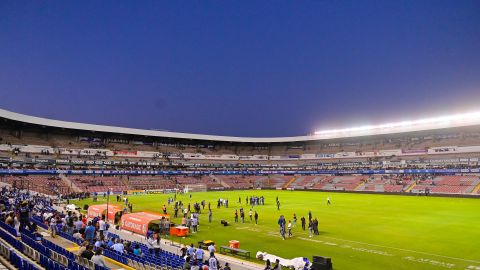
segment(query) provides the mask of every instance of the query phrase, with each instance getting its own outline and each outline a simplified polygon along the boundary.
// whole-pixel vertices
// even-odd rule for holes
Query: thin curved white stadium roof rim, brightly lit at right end
[[[40,126],[65,128],[73,130],[84,130],[94,132],[107,132],[127,134],[136,136],[151,136],[161,138],[176,138],[187,140],[221,141],[221,142],[243,142],[243,143],[287,143],[328,139],[352,138],[372,135],[386,135],[395,133],[446,129],[454,127],[466,127],[480,125],[480,112],[457,114],[437,118],[420,119],[415,121],[404,121],[375,126],[362,126],[346,129],[316,131],[313,135],[294,137],[231,137],[205,134],[191,134],[169,131],[157,131],[148,129],[124,128],[115,126],[104,126],[85,124],[61,120],[53,120],[42,117],[29,116],[0,109],[0,118],[13,121],[29,123]]]

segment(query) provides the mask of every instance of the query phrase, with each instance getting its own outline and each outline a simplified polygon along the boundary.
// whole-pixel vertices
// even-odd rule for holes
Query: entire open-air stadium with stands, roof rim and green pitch
[[[232,269],[480,269],[478,113],[276,138],[0,118],[2,209],[30,204],[36,228],[0,223],[20,269],[102,269],[82,214],[142,250],[105,249],[110,269],[180,269],[211,242]]]

